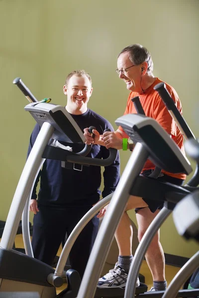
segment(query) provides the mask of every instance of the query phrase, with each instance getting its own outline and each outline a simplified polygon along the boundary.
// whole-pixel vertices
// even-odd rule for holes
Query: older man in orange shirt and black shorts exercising
[[[119,78],[123,79],[125,82],[127,89],[131,91],[128,96],[124,114],[136,113],[131,99],[135,96],[139,96],[146,116],[155,119],[167,131],[180,149],[184,151],[183,135],[169,114],[158,92],[153,89],[161,80],[154,77],[152,74],[153,62],[148,50],[139,44],[124,48],[117,57],[116,72],[119,74]],[[178,94],[173,87],[168,84],[166,84],[166,86],[176,106],[182,113],[182,106]],[[126,139],[128,136],[121,127],[115,132],[105,132],[101,136],[96,130],[93,130],[93,133],[95,134],[95,139],[91,137],[88,129],[85,129],[87,144],[97,143],[106,148],[126,149]],[[131,147],[132,145],[127,145],[128,149],[132,149]],[[147,160],[142,174],[148,176],[154,168],[154,164],[150,160]],[[158,177],[161,181],[167,181],[177,185],[182,185],[185,178],[186,175],[183,173],[173,174],[164,170]],[[115,232],[115,238],[119,248],[118,262],[115,264],[114,269],[100,278],[98,287],[124,287],[126,285],[129,267],[133,259],[131,249],[132,227],[127,211],[135,209],[138,223],[138,238],[140,241],[149,224],[151,224],[162,207],[159,202],[154,200],[135,196],[129,197],[126,210]],[[98,217],[104,216],[106,209],[107,206],[100,211]],[[160,243],[159,231],[151,242],[145,257],[153,276],[153,287],[150,291],[166,290],[165,258]],[[139,286],[139,279],[137,280],[137,286]]]

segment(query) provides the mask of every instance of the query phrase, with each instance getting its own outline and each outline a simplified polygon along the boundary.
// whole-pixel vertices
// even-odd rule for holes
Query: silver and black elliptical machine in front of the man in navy
[[[64,107],[38,102],[20,78],[17,78],[15,83],[31,101],[25,106],[25,110],[30,112],[41,126],[41,130],[19,179],[0,241],[0,292],[9,292],[10,290],[12,292],[37,292],[40,298],[55,298],[57,296],[55,287],[60,287],[63,284],[62,274],[55,273],[51,266],[29,255],[12,250],[18,224],[28,195],[31,193],[31,187],[34,185],[45,158],[56,157],[63,161],[63,166],[66,162],[106,166],[114,161],[117,150],[109,149],[109,157],[102,160],[84,157],[90,151],[91,146],[85,146],[85,149],[79,153],[53,147],[56,140],[73,143],[85,143],[86,140],[79,126]],[[29,209],[28,204],[29,200],[27,209]],[[79,274],[71,269],[67,272],[67,279],[70,287],[62,297],[74,298],[81,282]]]

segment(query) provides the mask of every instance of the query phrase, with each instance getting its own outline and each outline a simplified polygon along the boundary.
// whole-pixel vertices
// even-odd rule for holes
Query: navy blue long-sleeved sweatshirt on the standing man
[[[106,128],[113,131],[111,124],[106,119],[90,109],[82,115],[71,114],[71,116],[82,131],[90,126],[95,126],[100,134],[102,134]],[[28,155],[39,131],[40,127],[36,124],[30,137]],[[84,144],[60,143],[72,147],[74,152],[79,152],[85,146]],[[108,155],[109,150],[104,146],[93,145],[91,152],[87,156],[105,159]],[[115,161],[111,165],[104,167],[103,198],[114,192],[119,181],[119,171],[119,153],[117,152]],[[62,209],[69,206],[92,206],[100,199],[100,166],[83,166],[82,171],[77,171],[74,169],[62,168],[61,161],[59,160],[46,159],[37,177],[32,192],[32,199],[37,198],[36,186],[39,178],[40,190],[38,193],[38,205],[52,206],[54,208]]]

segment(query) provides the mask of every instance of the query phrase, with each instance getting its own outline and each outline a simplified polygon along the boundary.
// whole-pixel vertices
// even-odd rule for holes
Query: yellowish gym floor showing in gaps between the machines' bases
[[[23,238],[22,238],[22,235],[21,234],[16,235],[15,246],[16,247],[19,247],[19,248],[23,248],[24,247],[23,246]],[[57,255],[59,256],[60,253],[61,253],[61,248],[59,249]],[[174,278],[174,276],[177,274],[177,272],[179,270],[180,270],[180,268],[178,268],[178,267],[174,267],[174,266],[171,266],[171,265],[166,265],[166,267],[165,267],[165,274],[166,274],[166,280],[167,280],[168,285],[172,281],[172,279]],[[153,285],[153,279],[152,279],[152,276],[151,276],[151,273],[150,273],[150,270],[149,270],[149,268],[147,266],[146,261],[143,261],[142,262],[140,273],[145,276],[145,284],[148,285],[148,290],[150,290],[151,287],[152,287],[152,285]],[[62,290],[64,290],[65,287],[66,286],[64,284],[62,287],[57,288],[57,294],[59,294]]]

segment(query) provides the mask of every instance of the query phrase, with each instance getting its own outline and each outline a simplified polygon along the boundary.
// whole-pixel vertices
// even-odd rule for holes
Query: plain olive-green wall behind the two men
[[[0,0],[0,219],[5,220],[22,171],[34,120],[12,84],[20,76],[38,98],[65,105],[66,75],[85,69],[93,79],[89,107],[114,120],[128,96],[116,56],[132,43],[146,46],[154,74],[177,90],[184,116],[199,136],[198,0]],[[121,152],[121,170],[130,153]],[[130,216],[135,220],[134,211]],[[161,228],[166,253],[190,257],[198,250],[176,232],[170,217]]]

